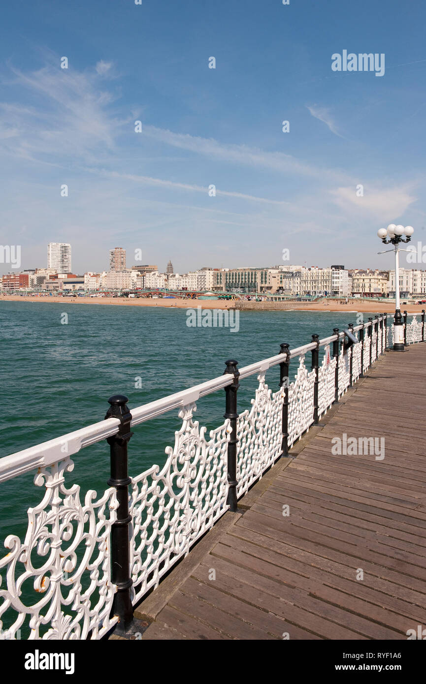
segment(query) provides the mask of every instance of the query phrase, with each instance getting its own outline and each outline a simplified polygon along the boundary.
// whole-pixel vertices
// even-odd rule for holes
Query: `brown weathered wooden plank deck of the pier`
[[[406,640],[426,626],[425,413],[426,346],[377,360],[136,609],[152,620],[142,640]],[[384,438],[384,459],[334,456],[344,433]]]

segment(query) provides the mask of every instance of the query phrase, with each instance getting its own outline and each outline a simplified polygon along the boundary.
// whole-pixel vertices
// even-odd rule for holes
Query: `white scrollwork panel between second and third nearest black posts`
[[[259,374],[258,381],[251,409],[245,410],[237,423],[238,497],[262,477],[281,453],[284,389],[272,393],[265,384],[264,372]]]

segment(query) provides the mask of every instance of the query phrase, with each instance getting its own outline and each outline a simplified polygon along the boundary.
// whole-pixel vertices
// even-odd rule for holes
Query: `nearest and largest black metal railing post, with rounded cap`
[[[127,633],[133,622],[133,606],[131,605],[130,594],[133,581],[130,577],[129,549],[129,527],[131,523],[129,484],[131,484],[131,479],[127,461],[127,442],[133,433],[130,432],[131,413],[127,406],[128,401],[129,399],[122,394],[110,397],[108,403],[111,406],[105,416],[105,420],[118,418],[121,421],[118,433],[107,438],[111,458],[111,477],[108,484],[115,488],[118,501],[116,521],[111,527],[111,580],[117,588],[111,614],[118,616],[116,627],[118,633]]]

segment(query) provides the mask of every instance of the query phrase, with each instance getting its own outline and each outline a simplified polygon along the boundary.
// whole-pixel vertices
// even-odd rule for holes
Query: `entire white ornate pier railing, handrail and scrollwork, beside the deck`
[[[295,350],[281,345],[286,350],[239,373],[236,362],[227,362],[223,376],[131,410],[131,428],[170,410],[179,411],[181,428],[175,432],[174,446],[166,448],[162,468],[153,465],[129,478],[124,499],[118,499],[118,492],[125,478],[111,480],[114,486],[99,499],[90,490],[84,503],[79,486],[66,487],[64,480],[64,473],[73,471],[71,456],[106,438],[110,445],[116,440],[121,449],[125,443],[127,459],[130,433],[123,436],[118,414],[0,458],[0,482],[36,470],[34,482],[44,487],[40,503],[28,510],[23,542],[14,535],[5,538],[0,638],[15,639],[21,632],[34,640],[100,639],[121,623],[116,598],[124,585],[133,604],[158,586],[218,518],[229,508],[235,510],[236,499],[357,382],[384,352],[386,339],[388,346],[392,340],[392,326],[386,328],[384,317],[355,326],[352,332],[358,341],[351,347],[344,332],[319,341],[314,336],[314,341]],[[423,321],[414,317],[406,338],[407,343],[423,340]],[[310,365],[307,354],[312,355]],[[290,364],[295,362],[298,367],[290,381]],[[280,387],[272,392],[265,376],[275,366],[280,368]],[[251,408],[238,415],[238,382],[253,375],[258,377],[258,389]],[[221,389],[231,402],[227,411],[232,402],[234,408],[206,436],[206,428],[194,419],[197,402]],[[118,563],[112,532],[124,524],[129,578],[118,587],[112,573]]]

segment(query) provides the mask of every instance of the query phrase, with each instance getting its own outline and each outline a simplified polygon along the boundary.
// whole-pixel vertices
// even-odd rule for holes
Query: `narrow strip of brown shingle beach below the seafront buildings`
[[[360,300],[355,302],[351,300],[347,304],[339,304],[338,302],[247,302],[245,300],[152,300],[152,299],[128,299],[127,297],[28,297],[20,295],[0,295],[0,302],[45,302],[50,304],[110,304],[111,306],[153,306],[157,308],[201,308],[212,309],[236,309],[236,311],[327,311],[329,313],[337,313],[339,311],[347,311],[348,313],[360,311],[362,313],[388,313],[392,314],[394,311],[394,302],[374,302]],[[403,306],[403,311],[407,313],[421,314],[425,304],[406,304]]]

